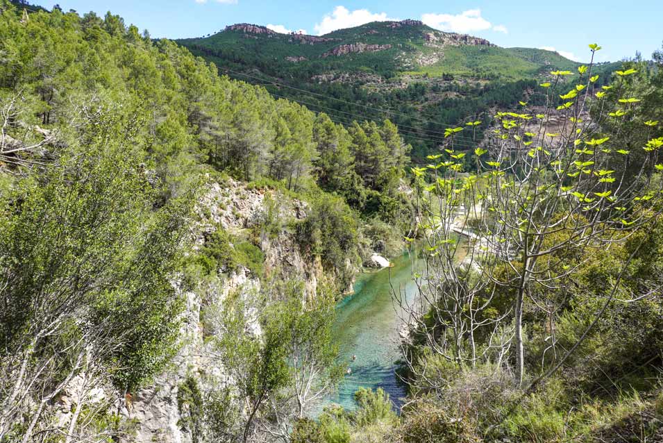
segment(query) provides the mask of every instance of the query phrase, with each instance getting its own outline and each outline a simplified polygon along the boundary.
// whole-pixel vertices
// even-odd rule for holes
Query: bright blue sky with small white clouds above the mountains
[[[197,37],[228,24],[270,25],[277,31],[304,30],[318,35],[374,20],[423,19],[442,31],[469,33],[503,47],[554,49],[587,61],[588,43],[603,51],[598,61],[645,58],[661,47],[663,1],[403,1],[403,0],[33,0],[79,13],[107,10],[153,37]]]

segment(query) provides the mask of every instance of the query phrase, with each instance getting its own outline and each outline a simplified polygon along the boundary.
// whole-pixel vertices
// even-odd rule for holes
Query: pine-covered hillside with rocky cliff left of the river
[[[224,360],[205,370],[250,377],[223,404],[251,399],[251,419],[219,431],[248,439],[293,386],[292,353],[325,343],[333,316],[310,326],[321,335],[287,319],[321,321],[297,310],[327,312],[364,260],[410,230],[408,145],[388,120],[335,124],[116,15],[0,5],[0,441],[133,441],[141,389],[182,349],[212,346],[201,332],[186,347],[192,321],[206,340],[237,328],[218,346],[242,353],[212,346]],[[226,296],[248,297],[259,318],[212,321]],[[287,342],[284,325],[304,335]],[[271,344],[244,337],[249,327]],[[316,352],[328,363],[332,350]],[[198,390],[201,375],[185,376],[175,389]],[[225,384],[210,389],[228,399]]]

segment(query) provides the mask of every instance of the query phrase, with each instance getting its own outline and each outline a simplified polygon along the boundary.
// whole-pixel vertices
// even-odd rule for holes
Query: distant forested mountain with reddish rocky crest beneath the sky
[[[419,162],[439,151],[445,128],[480,120],[475,138],[482,140],[494,110],[517,108],[519,101],[544,104],[537,81],[580,65],[552,51],[496,47],[417,20],[374,22],[319,37],[237,24],[178,43],[224,74],[265,85],[275,97],[326,112],[336,122],[389,118]],[[466,140],[468,151],[472,142]]]

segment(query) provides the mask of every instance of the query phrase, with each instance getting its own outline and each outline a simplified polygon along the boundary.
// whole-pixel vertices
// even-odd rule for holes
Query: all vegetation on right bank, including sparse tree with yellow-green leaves
[[[356,412],[300,421],[295,441],[663,438],[662,54],[653,58],[624,63],[610,85],[580,67],[561,94],[568,105],[542,84],[546,111],[498,113],[471,168],[452,143],[413,169],[426,270],[414,276],[418,301],[396,294],[411,325],[408,402],[396,419],[383,392],[358,392]],[[552,133],[552,119],[568,123]]]

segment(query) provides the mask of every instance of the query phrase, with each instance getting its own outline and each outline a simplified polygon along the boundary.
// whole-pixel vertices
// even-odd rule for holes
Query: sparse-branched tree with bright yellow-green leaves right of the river
[[[663,142],[651,138],[623,149],[621,131],[639,133],[646,124],[626,122],[622,126],[614,117],[628,116],[639,99],[622,96],[606,101],[605,88],[596,85],[592,65],[579,67],[578,72],[578,84],[564,94],[558,94],[555,85],[570,72],[555,72],[555,84],[541,86],[548,94],[545,113],[532,115],[528,109],[497,113],[500,126],[496,135],[476,149],[477,174],[463,172],[465,153],[455,149],[455,137],[463,127],[446,130],[452,142],[446,154],[430,156],[435,165],[413,169],[420,177],[430,172],[430,182],[421,183],[418,189],[421,209],[428,214],[420,228],[426,238],[428,269],[433,272],[426,276],[429,283],[421,285],[426,302],[419,308],[426,312],[412,318],[419,318],[426,345],[461,367],[476,365],[480,358],[503,364],[505,349],[511,347],[519,385],[525,377],[526,303],[531,301],[532,310],[548,319],[552,333],[556,313],[564,303],[559,295],[573,284],[582,260],[590,257],[586,252],[624,242],[629,233],[650,226],[658,216],[657,211],[647,209],[658,204],[660,181],[645,178],[646,171],[663,169],[656,167]],[[635,70],[616,73],[618,77],[632,74]],[[587,110],[601,110],[591,124],[582,118]],[[560,132],[548,128],[553,116],[567,122]],[[605,132],[597,131],[594,125],[604,119],[616,124],[601,126],[610,128]],[[639,179],[634,180],[628,159],[635,149],[640,151],[638,156],[644,152],[644,160]],[[460,265],[458,235],[469,243]],[[627,265],[610,281],[603,307],[589,328],[605,315]],[[499,310],[487,315],[489,308],[496,307],[499,294],[512,301],[512,313]],[[503,319],[513,321],[512,342],[501,336]],[[491,331],[491,338],[477,346],[481,329]],[[559,369],[585,337],[580,335],[532,383]],[[551,349],[556,349],[554,335],[551,340]]]

